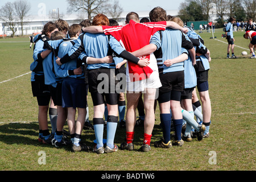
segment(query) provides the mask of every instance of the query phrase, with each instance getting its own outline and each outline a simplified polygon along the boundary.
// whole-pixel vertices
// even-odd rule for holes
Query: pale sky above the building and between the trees
[[[1,0],[0,7],[5,5],[6,2],[14,2],[15,0]],[[68,3],[66,0],[27,0],[31,4],[31,15],[40,13],[42,7],[46,7],[46,13],[59,8],[60,13],[67,13]],[[114,0],[112,0],[114,2]],[[119,6],[123,11],[150,11],[156,6],[162,7],[164,10],[178,10],[181,2],[185,0],[119,0]]]

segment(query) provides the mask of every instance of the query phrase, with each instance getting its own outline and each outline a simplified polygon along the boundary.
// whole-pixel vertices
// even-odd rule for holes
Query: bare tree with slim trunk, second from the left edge
[[[22,29],[22,36],[23,36],[23,26],[24,26],[24,20],[28,16],[28,13],[30,12],[31,6],[30,3],[25,0],[17,0],[13,3],[14,9],[16,12],[16,15],[18,16],[20,26]]]

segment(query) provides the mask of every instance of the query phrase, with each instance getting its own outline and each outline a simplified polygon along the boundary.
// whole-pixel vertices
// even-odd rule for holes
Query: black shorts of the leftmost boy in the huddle
[[[48,85],[44,84],[44,75],[35,75],[35,81],[31,81],[31,88],[33,97],[37,98],[39,106],[49,105],[51,94]]]

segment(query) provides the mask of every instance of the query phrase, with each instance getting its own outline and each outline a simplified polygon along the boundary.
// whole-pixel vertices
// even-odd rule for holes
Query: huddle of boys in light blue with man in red
[[[158,14],[159,17],[156,17],[154,13],[157,11],[162,12],[163,15],[160,16]],[[144,140],[140,149],[142,151],[151,150],[150,140],[154,127],[154,123],[151,121],[154,118],[152,117],[152,114],[154,115],[152,108],[154,108],[155,91],[157,88],[159,88],[160,93],[157,100],[160,108],[163,139],[154,142],[155,147],[170,148],[172,145],[182,146],[184,143],[183,139],[191,141],[191,137],[197,135],[197,139],[201,140],[206,135],[205,125],[202,125],[203,115],[200,111],[196,112],[197,108],[192,105],[192,91],[199,82],[205,83],[205,81],[198,80],[198,77],[202,75],[202,70],[200,69],[201,75],[196,73],[195,68],[197,67],[195,65],[197,61],[200,62],[200,68],[203,68],[204,71],[209,69],[209,50],[201,43],[201,38],[192,38],[192,36],[189,37],[189,34],[181,32],[187,32],[187,29],[183,28],[183,24],[179,26],[178,22],[174,24],[175,20],[170,25],[170,21],[167,21],[166,11],[160,7],[151,10],[150,23],[139,23],[136,13],[130,13],[127,17],[125,26],[110,27],[108,18],[105,15],[98,14],[94,17],[92,26],[82,28],[79,24],[73,24],[68,27],[68,31],[60,31],[64,29],[63,25],[67,27],[63,20],[59,20],[61,22],[59,26],[58,22],[55,23],[55,29],[53,29],[54,25],[48,22],[44,26],[46,31],[39,35],[39,40],[36,41],[36,38],[34,39],[36,44],[34,62],[31,64],[31,84],[33,94],[35,93],[34,90],[40,90],[34,94],[38,99],[38,117],[42,117],[40,109],[43,107],[43,118],[47,118],[50,98],[53,100],[54,105],[57,106],[56,122],[51,121],[52,128],[56,129],[55,131],[52,130],[52,134],[49,133],[46,120],[42,121],[42,119],[39,119],[40,141],[52,144],[55,147],[71,144],[72,151],[92,150],[97,154],[117,151],[118,147],[114,144],[114,137],[118,123],[118,99],[120,93],[110,92],[110,88],[113,87],[111,85],[113,83],[110,82],[108,83],[109,90],[107,92],[99,92],[98,85],[102,80],[99,80],[98,77],[103,73],[108,77],[115,78],[116,75],[113,70],[119,68],[120,64],[125,63],[127,63],[126,140],[121,144],[121,149],[134,149],[133,139],[136,122],[134,114],[136,107],[134,106],[138,104],[138,102],[134,102],[134,98],[137,99],[141,94],[144,94],[146,115],[144,121]],[[139,30],[138,23],[141,26],[139,28],[147,28],[148,32],[145,35],[147,38],[145,39],[148,42],[136,48],[134,48],[134,42],[136,41],[132,41],[127,37],[123,38],[121,33],[119,34],[117,31],[113,33],[112,31],[112,28],[120,32],[131,31],[133,28]],[[98,27],[101,27],[100,31],[98,31]],[[95,31],[93,28],[96,28]],[[135,34],[137,35],[138,33]],[[137,37],[136,35],[133,38]],[[121,59],[119,61],[114,59],[113,61],[112,55],[121,57]],[[145,55],[148,55],[146,59],[142,59]],[[123,61],[124,59],[127,62]],[[42,64],[42,68],[36,69],[35,65],[37,64]],[[86,75],[82,71],[82,64],[86,65],[88,71]],[[32,67],[33,65],[34,67]],[[134,82],[138,81],[138,88],[136,86],[135,88],[131,87],[130,85],[134,84],[134,82],[130,79],[130,73],[141,73],[139,71],[145,73],[146,76],[144,78],[135,78]],[[40,79],[38,78],[39,76]],[[88,77],[89,92],[93,100],[93,127],[97,143],[93,149],[81,142],[81,133],[86,115],[87,92],[85,77]],[[153,80],[152,77],[156,77],[156,80]],[[204,77],[208,78],[208,72],[207,76]],[[118,79],[115,78],[115,80]],[[42,86],[39,86],[38,82],[44,85],[44,90],[41,90]],[[148,84],[148,82],[150,83]],[[156,84],[152,84],[152,82],[156,82]],[[117,84],[118,81],[115,81],[114,86]],[[208,88],[205,87],[204,89],[207,90]],[[145,90],[153,90],[153,92],[145,92]],[[137,92],[139,94],[136,94]],[[154,98],[148,98],[150,97],[149,93],[153,93],[152,96]],[[105,102],[108,109],[108,117],[106,117],[107,139],[106,147],[104,148],[102,140],[105,124],[103,119]],[[78,111],[77,119],[75,119],[76,110]],[[200,118],[200,123],[195,121],[194,111],[195,115],[198,113],[196,117]],[[63,135],[65,121],[68,123],[71,141],[65,139]],[[171,121],[175,128],[175,140],[172,143],[170,139]],[[203,122],[203,124],[205,123]],[[206,126],[209,125],[207,124]],[[181,134],[182,129],[183,134]],[[209,127],[207,132],[209,134]],[[181,139],[181,136],[183,139]]]

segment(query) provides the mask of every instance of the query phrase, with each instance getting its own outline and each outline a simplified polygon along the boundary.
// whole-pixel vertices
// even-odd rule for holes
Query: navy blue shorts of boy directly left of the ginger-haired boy
[[[62,106],[86,108],[86,85],[83,78],[64,78],[62,83]]]

